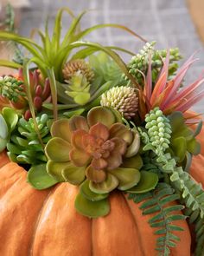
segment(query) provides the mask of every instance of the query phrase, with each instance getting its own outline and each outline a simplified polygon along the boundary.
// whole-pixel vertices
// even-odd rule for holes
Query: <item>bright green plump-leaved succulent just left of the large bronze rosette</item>
[[[41,141],[46,144],[50,139],[48,115],[42,114],[37,116],[36,123]],[[24,118],[21,118],[10,136],[10,142],[7,144],[10,160],[32,166],[46,163],[47,158],[41,141],[39,141],[35,131],[34,120],[30,118],[29,121],[26,121]]]

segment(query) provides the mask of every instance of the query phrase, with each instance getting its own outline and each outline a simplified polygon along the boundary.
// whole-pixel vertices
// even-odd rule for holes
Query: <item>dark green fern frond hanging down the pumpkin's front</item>
[[[175,226],[172,222],[175,220],[185,220],[186,216],[181,211],[182,205],[175,205],[175,200],[179,199],[179,195],[175,194],[175,189],[166,183],[159,183],[156,189],[146,194],[129,194],[129,199],[136,203],[143,202],[141,210],[143,214],[154,214],[150,218],[151,227],[156,228],[155,234],[159,235],[156,240],[156,251],[161,256],[170,255],[170,248],[176,246],[179,237],[174,231],[182,231],[182,227]]]

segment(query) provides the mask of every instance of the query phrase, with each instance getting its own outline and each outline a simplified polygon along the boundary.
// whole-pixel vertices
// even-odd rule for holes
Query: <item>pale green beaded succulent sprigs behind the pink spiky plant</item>
[[[143,85],[143,75],[147,75],[149,62],[151,61],[152,82],[155,83],[159,72],[163,67],[163,61],[167,56],[167,50],[156,50],[154,48],[156,42],[146,43],[143,49],[136,56],[131,58],[128,69],[131,75],[135,77],[137,82]],[[182,58],[179,49],[169,49],[169,78],[175,74],[178,69],[177,62]],[[143,75],[142,75],[143,74]],[[128,78],[126,77],[128,80]]]

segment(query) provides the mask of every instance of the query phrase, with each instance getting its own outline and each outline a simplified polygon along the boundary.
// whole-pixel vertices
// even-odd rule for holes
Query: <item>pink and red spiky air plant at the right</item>
[[[155,86],[152,85],[151,65],[149,64],[148,75],[143,88],[143,100],[146,106],[146,112],[150,109],[159,107],[165,115],[174,111],[184,113],[196,102],[199,102],[204,95],[202,87],[204,78],[201,75],[197,80],[181,89],[181,83],[189,67],[195,62],[194,55],[190,56],[181,69],[178,70],[174,78],[168,81],[169,53],[163,63],[163,69],[158,76]],[[143,111],[145,107],[143,106]]]

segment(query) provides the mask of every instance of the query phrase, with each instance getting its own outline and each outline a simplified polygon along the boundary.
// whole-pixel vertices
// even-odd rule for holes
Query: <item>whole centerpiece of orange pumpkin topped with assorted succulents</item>
[[[18,69],[0,77],[0,253],[202,256],[202,118],[189,109],[204,78],[184,82],[196,59],[179,68],[179,49],[117,24],[80,30],[85,13],[59,10],[52,36],[48,23],[37,30],[41,45],[0,31],[21,56],[0,60]],[[143,49],[82,41],[105,27]]]

